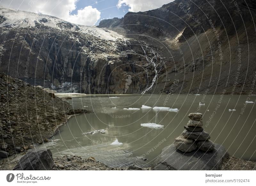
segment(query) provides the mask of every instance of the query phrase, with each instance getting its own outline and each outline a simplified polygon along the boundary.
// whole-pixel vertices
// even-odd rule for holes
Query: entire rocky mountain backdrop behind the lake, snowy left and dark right
[[[0,71],[59,92],[252,94],[255,1],[176,0],[98,27],[0,8]]]

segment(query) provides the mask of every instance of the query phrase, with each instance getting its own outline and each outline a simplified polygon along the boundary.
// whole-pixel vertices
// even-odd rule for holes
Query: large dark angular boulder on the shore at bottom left
[[[50,149],[33,150],[21,157],[13,170],[51,170],[54,165]]]

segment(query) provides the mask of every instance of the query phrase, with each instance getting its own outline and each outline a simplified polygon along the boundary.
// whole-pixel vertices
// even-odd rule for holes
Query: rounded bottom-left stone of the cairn
[[[187,139],[184,136],[179,136],[175,139],[174,145],[176,149],[179,149],[182,152],[191,152],[196,150],[195,140]]]

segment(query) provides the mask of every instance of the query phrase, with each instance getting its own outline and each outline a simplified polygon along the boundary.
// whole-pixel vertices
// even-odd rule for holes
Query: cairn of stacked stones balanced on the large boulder
[[[204,131],[201,113],[188,114],[189,121],[181,136],[175,139],[175,148],[182,152],[191,152],[197,148],[201,151],[209,152],[214,149],[214,144],[210,141],[210,135]]]

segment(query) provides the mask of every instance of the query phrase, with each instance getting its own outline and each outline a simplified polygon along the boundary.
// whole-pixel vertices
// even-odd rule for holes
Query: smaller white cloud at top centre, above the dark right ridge
[[[174,0],[118,0],[117,7],[129,6],[130,12],[144,12],[157,9]]]

